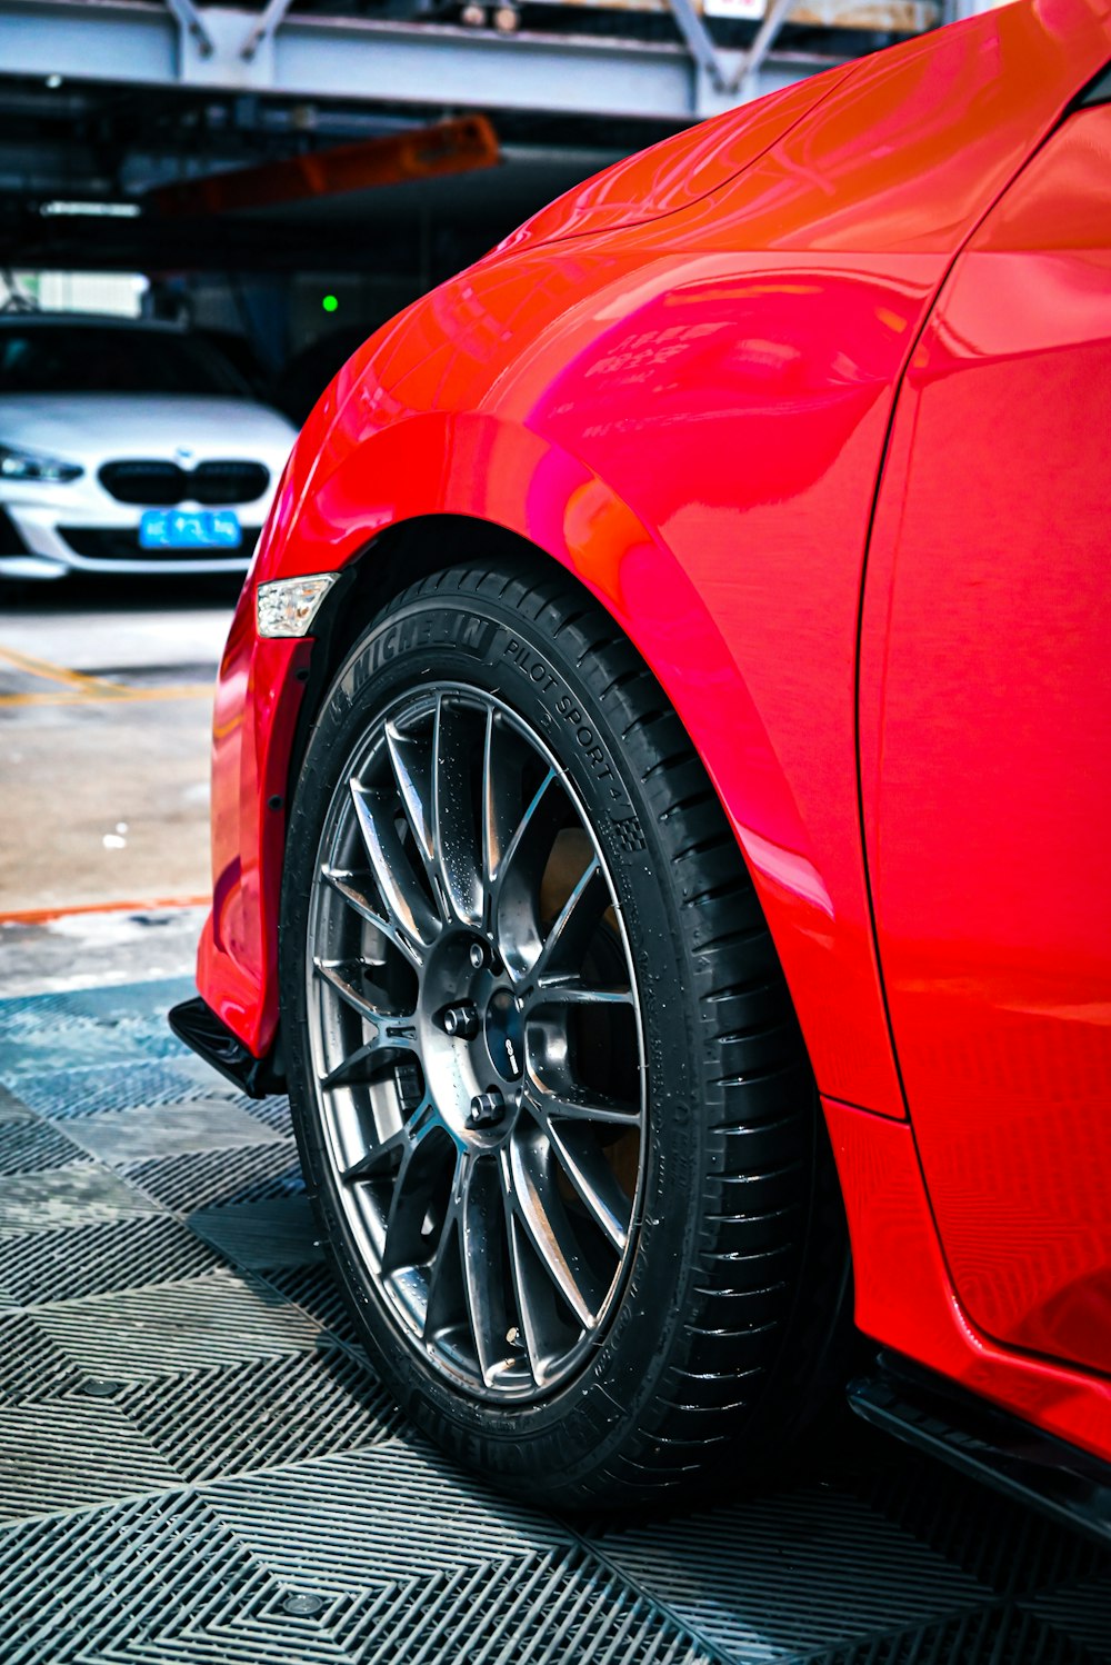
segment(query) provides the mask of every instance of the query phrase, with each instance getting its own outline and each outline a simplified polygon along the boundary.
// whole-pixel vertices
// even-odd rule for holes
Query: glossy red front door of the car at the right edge
[[[955,266],[900,396],[860,756],[883,979],[971,1322],[1111,1370],[1111,107]]]

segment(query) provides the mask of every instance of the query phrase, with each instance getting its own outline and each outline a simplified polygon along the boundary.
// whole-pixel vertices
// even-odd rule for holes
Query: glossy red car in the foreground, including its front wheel
[[[855,1315],[1111,1532],[1109,62],[1011,5],[619,163],[293,453],[173,1021],[529,1497],[773,1469]]]

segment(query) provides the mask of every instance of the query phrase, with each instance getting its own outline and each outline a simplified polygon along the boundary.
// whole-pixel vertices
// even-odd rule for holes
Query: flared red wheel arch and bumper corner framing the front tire
[[[273,576],[374,559],[374,539],[431,514],[506,528],[572,571],[635,643],[710,771],[757,882],[818,1079],[843,1097],[845,1026],[875,1027],[886,1049],[867,936],[855,821],[817,847],[737,656],[675,554],[604,480],[527,428],[479,415],[427,415],[361,445],[343,420],[321,448],[314,488],[259,551],[225,663],[215,719],[213,914],[198,982],[259,1056],[278,1024],[276,922],[289,758],[313,644],[266,641],[254,588]],[[521,674],[522,666],[507,666]],[[852,748],[850,748],[852,749]],[[832,829],[827,829],[832,831]],[[833,856],[830,854],[833,844]],[[838,961],[827,972],[827,956]],[[848,967],[857,976],[848,976]],[[850,1092],[848,1087],[855,1092]],[[881,1107],[900,1112],[896,1094]]]

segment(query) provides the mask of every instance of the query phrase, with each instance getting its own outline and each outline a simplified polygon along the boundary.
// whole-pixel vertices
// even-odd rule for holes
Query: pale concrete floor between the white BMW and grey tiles
[[[233,604],[215,579],[91,578],[5,604],[0,919],[208,892],[211,686]]]

